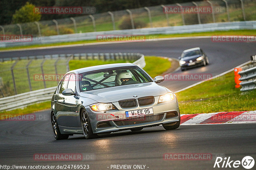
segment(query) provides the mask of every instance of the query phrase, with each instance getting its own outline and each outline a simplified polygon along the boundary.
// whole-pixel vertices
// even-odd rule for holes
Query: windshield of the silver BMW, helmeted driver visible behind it
[[[152,82],[139,67],[117,67],[79,74],[80,91]]]

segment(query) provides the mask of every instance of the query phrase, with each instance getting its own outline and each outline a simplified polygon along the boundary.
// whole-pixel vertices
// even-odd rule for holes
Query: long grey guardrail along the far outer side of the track
[[[177,34],[177,33],[226,31],[226,30],[241,30],[241,29],[256,29],[256,21],[210,23],[210,24],[198,24],[198,25],[183,25],[183,26],[169,26],[169,27],[158,27],[158,28],[142,28],[142,29],[130,29],[130,30],[55,35],[55,36],[47,36],[47,37],[37,37],[37,38],[34,38],[32,41],[27,41],[27,42],[24,42],[24,41],[23,42],[22,41],[0,42],[0,47],[92,40],[92,39],[97,39],[97,35]]]

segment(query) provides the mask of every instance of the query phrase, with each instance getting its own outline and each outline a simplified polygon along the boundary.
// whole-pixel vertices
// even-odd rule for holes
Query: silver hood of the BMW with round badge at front
[[[157,85],[155,82],[149,82],[96,89],[81,92],[79,95],[91,98],[99,103],[110,103],[144,96],[160,96],[166,93],[167,90],[164,87]],[[134,95],[137,97],[133,97]]]

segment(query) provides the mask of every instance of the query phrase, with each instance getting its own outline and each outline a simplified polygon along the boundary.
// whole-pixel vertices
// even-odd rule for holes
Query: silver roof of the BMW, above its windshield
[[[91,66],[91,67],[84,67],[84,68],[79,68],[76,70],[71,70],[68,73],[84,73],[84,72],[89,72],[89,71],[94,71],[94,70],[101,70],[101,69],[108,69],[108,68],[115,68],[115,67],[127,67],[127,66],[136,66],[135,64],[132,63],[115,63],[115,64],[105,64],[105,65],[98,65],[98,66]],[[68,74],[66,73],[66,74]]]

